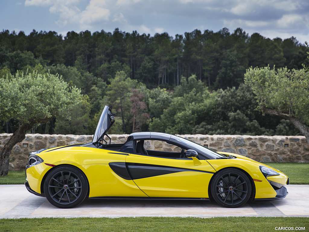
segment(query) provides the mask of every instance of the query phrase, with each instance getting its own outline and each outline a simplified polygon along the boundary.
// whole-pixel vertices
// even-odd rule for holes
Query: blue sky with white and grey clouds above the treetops
[[[0,0],[0,29],[91,33],[167,32],[175,38],[195,29],[309,42],[308,0]]]

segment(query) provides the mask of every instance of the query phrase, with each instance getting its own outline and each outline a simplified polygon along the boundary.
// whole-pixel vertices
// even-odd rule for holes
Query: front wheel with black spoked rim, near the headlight
[[[210,191],[219,205],[236,208],[249,200],[252,187],[246,174],[238,169],[230,168],[215,174]]]

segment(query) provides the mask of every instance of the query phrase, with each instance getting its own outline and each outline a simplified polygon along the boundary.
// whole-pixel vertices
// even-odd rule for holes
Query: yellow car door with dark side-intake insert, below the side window
[[[126,156],[136,185],[150,198],[209,198],[208,183],[215,170],[206,160],[164,158],[141,154]]]

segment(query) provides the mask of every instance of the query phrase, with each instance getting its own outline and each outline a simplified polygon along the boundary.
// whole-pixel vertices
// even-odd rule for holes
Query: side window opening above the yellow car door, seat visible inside
[[[144,149],[144,150],[143,150]],[[137,141],[137,153],[164,158],[186,158],[185,149],[161,140]]]

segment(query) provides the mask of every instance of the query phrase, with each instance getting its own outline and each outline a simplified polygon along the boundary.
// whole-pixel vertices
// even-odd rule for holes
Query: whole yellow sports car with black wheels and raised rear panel
[[[31,153],[28,191],[59,208],[74,207],[86,198],[214,200],[239,207],[248,200],[287,195],[289,178],[279,170],[176,135],[136,132],[124,144],[111,144],[106,132],[113,122],[112,107],[105,106],[91,143]],[[162,144],[167,151],[156,149]]]

